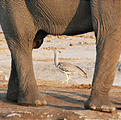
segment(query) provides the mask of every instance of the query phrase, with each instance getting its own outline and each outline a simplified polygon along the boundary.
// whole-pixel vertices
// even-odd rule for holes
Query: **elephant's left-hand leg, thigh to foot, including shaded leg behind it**
[[[5,3],[6,7],[0,9],[1,26],[12,57],[7,98],[22,105],[44,105],[46,101],[40,96],[32,64],[32,44],[37,32],[33,16],[25,0],[19,5],[14,0]]]

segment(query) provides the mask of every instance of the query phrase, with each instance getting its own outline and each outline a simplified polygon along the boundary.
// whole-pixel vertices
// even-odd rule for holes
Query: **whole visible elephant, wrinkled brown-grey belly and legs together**
[[[11,51],[7,99],[44,105],[35,81],[32,49],[48,34],[95,31],[97,57],[86,109],[113,112],[108,96],[121,51],[120,0],[1,0],[0,23]],[[81,51],[80,51],[81,52]]]

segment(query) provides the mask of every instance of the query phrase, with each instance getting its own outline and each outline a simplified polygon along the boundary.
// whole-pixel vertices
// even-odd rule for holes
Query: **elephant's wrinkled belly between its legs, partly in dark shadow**
[[[28,8],[38,30],[67,35],[92,31],[90,0],[37,0]]]

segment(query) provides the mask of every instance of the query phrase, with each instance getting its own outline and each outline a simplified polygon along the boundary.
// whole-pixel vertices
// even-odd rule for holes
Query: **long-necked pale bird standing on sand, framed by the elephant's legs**
[[[87,73],[82,70],[79,66],[67,62],[59,62],[58,53],[61,53],[61,51],[54,49],[54,65],[61,72],[65,73],[67,84],[70,79],[70,74],[72,73],[81,74],[83,77],[87,78]]]

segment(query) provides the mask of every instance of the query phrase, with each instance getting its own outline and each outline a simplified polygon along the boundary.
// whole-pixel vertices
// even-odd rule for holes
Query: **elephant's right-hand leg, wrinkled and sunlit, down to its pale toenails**
[[[86,109],[103,112],[116,111],[116,108],[111,105],[109,91],[121,52],[121,16],[118,14],[120,6],[119,1],[113,3],[113,1],[92,0],[97,56],[91,96],[85,103]]]

